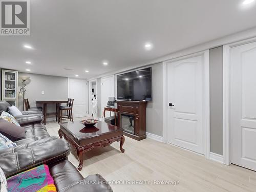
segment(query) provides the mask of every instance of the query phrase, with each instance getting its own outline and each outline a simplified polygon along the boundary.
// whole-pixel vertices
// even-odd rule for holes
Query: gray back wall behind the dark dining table
[[[68,77],[32,73],[18,73],[18,76],[30,77],[25,93],[25,99],[29,99],[30,106],[36,106],[36,100],[68,100]],[[21,81],[18,80],[19,89]],[[44,95],[41,94],[42,91],[45,92]],[[18,108],[22,110],[22,96],[18,97]],[[54,112],[55,105],[47,105],[47,111]]]

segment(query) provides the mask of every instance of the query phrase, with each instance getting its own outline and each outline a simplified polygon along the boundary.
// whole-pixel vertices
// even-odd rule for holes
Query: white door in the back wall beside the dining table
[[[73,116],[87,116],[87,80],[69,78],[69,98],[74,99]]]

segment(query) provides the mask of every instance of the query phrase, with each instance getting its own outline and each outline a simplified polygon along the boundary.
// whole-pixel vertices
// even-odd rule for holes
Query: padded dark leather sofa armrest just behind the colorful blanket
[[[0,165],[8,178],[41,164],[67,159],[69,154],[66,140],[49,137],[1,150]]]

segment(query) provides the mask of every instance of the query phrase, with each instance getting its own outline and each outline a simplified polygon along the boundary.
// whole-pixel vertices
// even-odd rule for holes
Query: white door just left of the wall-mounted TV
[[[109,97],[114,97],[114,76],[101,78],[101,110],[102,117],[104,107],[108,104]],[[112,113],[113,114],[113,113]],[[106,117],[110,116],[110,112],[105,113]]]

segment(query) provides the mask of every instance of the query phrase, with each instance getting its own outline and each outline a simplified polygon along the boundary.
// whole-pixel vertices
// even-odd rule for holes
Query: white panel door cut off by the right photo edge
[[[231,163],[256,170],[256,42],[230,51]]]

